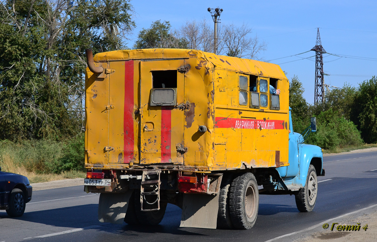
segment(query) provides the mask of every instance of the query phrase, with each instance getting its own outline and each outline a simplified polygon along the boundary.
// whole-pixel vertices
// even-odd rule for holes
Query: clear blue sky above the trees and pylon
[[[323,55],[325,83],[342,87],[358,83],[377,75],[377,1],[148,1],[132,0],[136,29],[129,35],[129,47],[142,28],[149,28],[156,20],[170,21],[172,28],[180,28],[186,21],[206,18],[213,23],[207,8],[224,9],[221,23],[247,24],[257,36],[267,43],[261,54],[264,60],[287,57],[309,51],[316,44],[320,28],[322,46],[328,53],[354,57],[375,58],[360,60]],[[305,88],[304,97],[314,102],[313,51],[299,57],[283,58],[271,63],[280,64],[288,79],[297,75]],[[338,59],[338,60],[337,60]],[[298,60],[298,61],[294,61]],[[285,63],[288,61],[293,61]],[[348,76],[339,76],[348,75]],[[355,75],[359,75],[355,77]]]

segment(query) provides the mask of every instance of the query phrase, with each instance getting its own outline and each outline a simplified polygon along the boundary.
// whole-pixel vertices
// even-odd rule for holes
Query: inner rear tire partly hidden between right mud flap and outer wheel
[[[229,187],[231,181],[231,176],[229,174],[224,174],[221,181],[219,193],[219,211],[217,214],[217,228],[233,228],[229,213]]]

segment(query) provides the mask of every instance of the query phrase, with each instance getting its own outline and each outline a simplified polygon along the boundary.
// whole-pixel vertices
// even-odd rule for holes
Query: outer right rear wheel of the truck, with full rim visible
[[[259,192],[255,176],[244,173],[233,179],[229,190],[229,210],[233,227],[252,228],[257,219]]]

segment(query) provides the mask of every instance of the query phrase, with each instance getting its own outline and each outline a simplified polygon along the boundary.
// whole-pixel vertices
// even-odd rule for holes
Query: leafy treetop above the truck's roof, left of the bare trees
[[[170,31],[169,21],[161,23],[157,20],[152,23],[149,29],[142,29],[135,42],[135,49],[151,48],[179,48],[187,49],[187,41],[177,36],[177,32]]]

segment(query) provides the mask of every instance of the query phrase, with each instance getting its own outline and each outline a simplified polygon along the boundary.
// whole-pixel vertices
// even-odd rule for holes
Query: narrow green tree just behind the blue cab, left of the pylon
[[[310,117],[309,105],[302,96],[304,91],[299,78],[294,75],[289,84],[289,106],[292,109],[293,130],[297,133],[306,129]]]

